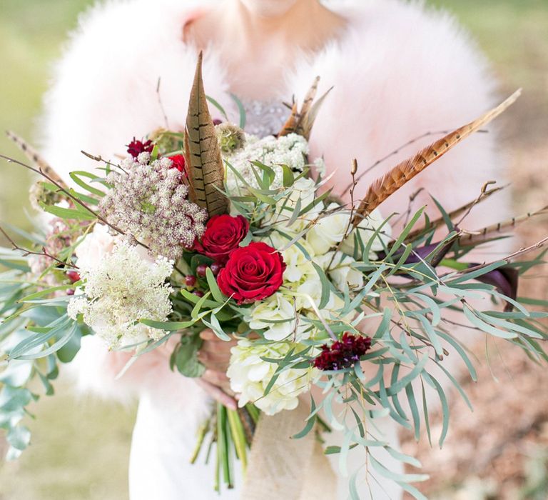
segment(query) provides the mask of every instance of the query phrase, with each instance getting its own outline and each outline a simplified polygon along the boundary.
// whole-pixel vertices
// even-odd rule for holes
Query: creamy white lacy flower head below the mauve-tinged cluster
[[[136,247],[119,241],[101,261],[78,264],[85,280],[84,294],[74,296],[68,304],[71,318],[82,314],[84,323],[110,349],[161,339],[166,334],[138,320],[166,321],[171,313],[169,295],[173,290],[166,284],[173,272],[171,261],[143,259]]]

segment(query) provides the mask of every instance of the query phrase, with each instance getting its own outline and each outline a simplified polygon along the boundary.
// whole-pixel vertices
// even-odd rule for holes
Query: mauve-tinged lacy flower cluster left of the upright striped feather
[[[108,175],[112,189],[101,200],[101,215],[146,241],[154,256],[176,260],[203,235],[208,214],[187,199],[184,174],[171,168],[171,159],[149,161],[150,154],[141,153],[123,161],[126,174]]]

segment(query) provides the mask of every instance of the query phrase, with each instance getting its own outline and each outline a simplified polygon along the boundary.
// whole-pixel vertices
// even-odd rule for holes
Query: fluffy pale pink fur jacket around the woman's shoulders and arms
[[[163,126],[156,97],[158,78],[169,124],[183,128],[196,49],[183,43],[181,30],[210,4],[215,1],[111,1],[82,17],[56,66],[46,100],[43,145],[46,159],[61,174],[98,166],[83,157],[81,149],[113,158],[124,154],[124,144],[133,136],[142,137]],[[335,192],[350,181],[353,158],[365,169],[410,139],[465,124],[495,103],[484,58],[447,14],[397,0],[327,4],[345,16],[347,30],[319,54],[298,58],[285,74],[286,91],[280,99],[295,94],[302,101],[316,75],[321,76],[320,91],[333,86],[310,147],[313,156],[325,157],[330,171],[337,169]],[[206,92],[236,120],[228,95],[230,75],[211,50],[205,51],[203,74]],[[212,113],[215,116],[218,111],[212,109]],[[432,139],[419,141],[386,161],[360,182],[357,195],[398,159]],[[504,180],[495,134],[479,134],[457,146],[381,209],[383,214],[405,210],[408,196],[420,186],[447,209],[455,209],[474,199],[482,184],[492,179]],[[415,207],[428,204],[436,214],[427,191]],[[502,195],[475,211],[467,219],[467,228],[505,215],[507,199]],[[91,340],[78,355],[81,381],[89,389],[118,395],[128,394],[129,389],[166,395],[192,391],[203,398],[194,384],[169,371],[167,351],[143,356],[113,381],[126,355],[107,354]]]

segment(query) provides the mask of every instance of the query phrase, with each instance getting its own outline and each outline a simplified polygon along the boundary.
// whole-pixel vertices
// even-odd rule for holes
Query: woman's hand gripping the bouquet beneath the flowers
[[[200,336],[203,344],[198,352],[198,359],[205,366],[205,373],[196,382],[213,399],[235,410],[237,404],[233,398],[234,393],[230,390],[226,371],[230,361],[230,348],[235,346],[236,341],[220,340],[210,329],[202,331]]]

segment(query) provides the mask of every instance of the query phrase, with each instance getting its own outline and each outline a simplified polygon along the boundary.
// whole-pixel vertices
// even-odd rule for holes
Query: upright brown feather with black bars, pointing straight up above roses
[[[188,178],[192,184],[196,204],[208,211],[209,216],[225,214],[228,199],[223,190],[225,169],[215,134],[215,125],[205,99],[202,79],[203,54],[198,56],[196,74],[188,103],[186,130],[188,134]]]

